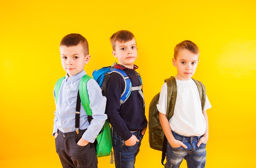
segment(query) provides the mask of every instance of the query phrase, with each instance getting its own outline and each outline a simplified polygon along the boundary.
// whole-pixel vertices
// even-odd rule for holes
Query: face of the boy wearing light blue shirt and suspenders
[[[83,71],[85,64],[90,61],[90,55],[83,54],[81,44],[72,47],[60,46],[60,52],[62,67],[68,76],[73,76]]]

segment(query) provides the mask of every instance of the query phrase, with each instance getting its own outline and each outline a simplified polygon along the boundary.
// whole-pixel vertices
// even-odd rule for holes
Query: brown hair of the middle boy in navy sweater
[[[125,43],[127,41],[131,41],[132,39],[135,39],[135,36],[130,31],[121,30],[121,31],[114,33],[109,39],[112,44],[113,50],[115,50],[115,48],[116,48],[115,43],[117,41],[119,41],[120,43]]]

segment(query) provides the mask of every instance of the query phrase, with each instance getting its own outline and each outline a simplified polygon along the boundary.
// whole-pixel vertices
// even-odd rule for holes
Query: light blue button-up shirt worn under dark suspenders
[[[61,84],[58,102],[56,103],[56,111],[54,112],[53,135],[58,129],[63,133],[75,131],[75,112],[79,82],[85,74],[85,70],[70,77],[66,74]],[[102,96],[101,88],[94,79],[90,79],[87,82],[87,91],[93,120],[89,123],[88,116],[83,106],[80,105],[79,128],[81,130],[87,129],[82,137],[88,142],[93,143],[107,119],[107,115],[105,114],[106,97]]]

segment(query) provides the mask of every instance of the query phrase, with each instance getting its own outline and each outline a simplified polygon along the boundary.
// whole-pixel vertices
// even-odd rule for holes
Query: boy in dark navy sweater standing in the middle
[[[140,86],[141,82],[134,65],[137,59],[137,44],[130,31],[118,31],[110,37],[112,54],[118,59],[115,68],[123,70],[132,82],[132,86]],[[141,140],[147,128],[144,98],[136,90],[128,99],[120,104],[125,83],[118,73],[112,73],[106,84],[106,114],[113,128],[113,149],[116,168],[133,168],[135,157],[139,153]]]

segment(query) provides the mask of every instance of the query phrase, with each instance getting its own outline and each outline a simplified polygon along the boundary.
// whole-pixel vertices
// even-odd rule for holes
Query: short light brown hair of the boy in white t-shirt
[[[180,50],[183,50],[183,49],[187,49],[190,52],[192,52],[196,55],[199,55],[198,46],[195,43],[193,43],[192,41],[185,40],[185,41],[182,41],[181,43],[179,43],[175,46],[175,48],[174,48],[174,59],[177,58],[178,52]]]

